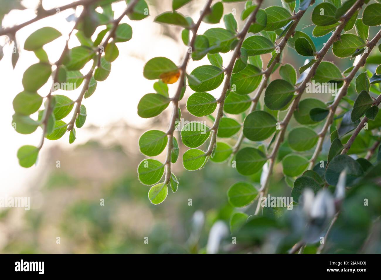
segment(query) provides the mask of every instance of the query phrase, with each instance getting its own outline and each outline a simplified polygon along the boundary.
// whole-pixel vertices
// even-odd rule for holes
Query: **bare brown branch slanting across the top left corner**
[[[48,16],[53,16],[57,12],[62,12],[67,9],[76,8],[77,6],[81,6],[81,5],[87,6],[98,1],[99,0],[79,0],[79,1],[67,4],[61,7],[53,8],[51,10],[43,10],[42,12],[37,13],[37,16],[35,18],[30,19],[29,21],[26,21],[16,26],[0,29],[0,36],[8,35],[8,34],[14,35],[21,28],[26,27],[29,24],[32,24],[33,22],[39,21],[40,19],[46,18]]]

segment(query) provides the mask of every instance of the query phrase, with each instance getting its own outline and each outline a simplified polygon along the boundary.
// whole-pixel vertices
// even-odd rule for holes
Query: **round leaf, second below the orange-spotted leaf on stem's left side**
[[[149,157],[161,154],[165,149],[168,138],[165,132],[160,130],[149,130],[139,138],[140,152]]]

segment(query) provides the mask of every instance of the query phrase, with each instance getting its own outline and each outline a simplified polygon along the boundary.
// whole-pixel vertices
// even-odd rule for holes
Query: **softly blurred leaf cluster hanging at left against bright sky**
[[[66,131],[70,131],[69,143],[75,141],[74,125],[81,128],[86,121],[86,107],[82,104],[82,99],[89,98],[96,90],[97,83],[109,76],[111,63],[119,54],[117,44],[132,38],[131,26],[120,23],[121,19],[125,15],[130,20],[141,20],[148,16],[148,6],[144,0],[128,0],[128,8],[122,16],[114,19],[112,2],[115,0],[95,0],[85,6],[82,14],[75,19],[73,29],[80,45],[69,49],[66,43],[61,58],[55,63],[50,62],[43,46],[62,36],[58,30],[42,27],[26,39],[24,50],[33,51],[40,61],[25,70],[22,77],[24,90],[13,100],[15,114],[12,126],[18,133],[30,134],[41,127],[43,138],[57,140]],[[96,10],[98,7],[102,8],[102,12]],[[95,34],[98,27],[103,29]],[[91,69],[83,74],[81,70],[86,65],[91,65]],[[50,77],[53,78],[53,85],[44,102],[43,96],[37,91]],[[75,100],[63,94],[53,94],[56,90],[70,91],[82,84],[80,96]],[[72,112],[75,104],[72,118],[69,122],[64,122],[62,119]],[[37,120],[33,117],[36,112]],[[35,164],[43,140],[39,146],[26,145],[18,150],[17,157],[21,166],[30,167]]]

